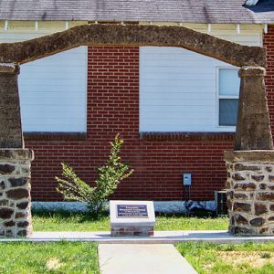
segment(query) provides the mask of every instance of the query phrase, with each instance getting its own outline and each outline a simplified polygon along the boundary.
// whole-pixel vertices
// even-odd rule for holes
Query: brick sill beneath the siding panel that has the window
[[[145,141],[234,141],[235,132],[140,132]]]

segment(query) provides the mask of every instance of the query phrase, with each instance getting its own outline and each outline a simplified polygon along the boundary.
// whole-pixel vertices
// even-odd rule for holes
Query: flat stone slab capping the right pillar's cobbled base
[[[256,162],[274,163],[274,150],[254,150],[254,151],[225,151],[225,161],[236,162]]]

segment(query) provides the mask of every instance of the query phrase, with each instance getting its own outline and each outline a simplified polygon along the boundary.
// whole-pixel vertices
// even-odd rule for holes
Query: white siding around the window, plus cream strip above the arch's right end
[[[261,46],[260,29],[212,35]],[[217,68],[234,68],[180,47],[140,48],[140,132],[234,132],[219,126]]]

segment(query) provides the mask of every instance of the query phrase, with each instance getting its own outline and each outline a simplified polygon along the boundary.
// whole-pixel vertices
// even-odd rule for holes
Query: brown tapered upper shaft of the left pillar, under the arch
[[[0,148],[23,148],[17,75],[19,67],[0,64]]]

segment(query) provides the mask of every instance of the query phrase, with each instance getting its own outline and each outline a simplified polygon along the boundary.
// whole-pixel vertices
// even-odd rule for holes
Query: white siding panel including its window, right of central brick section
[[[139,131],[235,131],[237,70],[180,47],[141,47]]]

